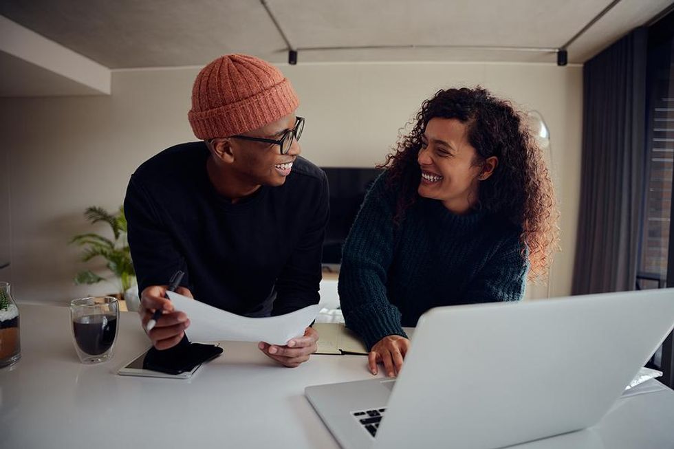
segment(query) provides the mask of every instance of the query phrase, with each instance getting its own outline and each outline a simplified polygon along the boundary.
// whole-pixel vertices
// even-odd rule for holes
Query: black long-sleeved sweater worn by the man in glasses
[[[204,142],[173,146],[133,173],[124,213],[140,291],[176,270],[195,299],[243,316],[318,303],[327,177],[298,157],[279,187],[232,204],[210,184]]]

